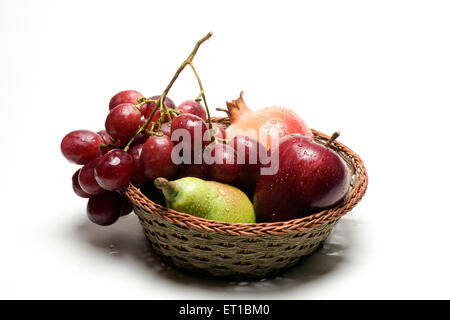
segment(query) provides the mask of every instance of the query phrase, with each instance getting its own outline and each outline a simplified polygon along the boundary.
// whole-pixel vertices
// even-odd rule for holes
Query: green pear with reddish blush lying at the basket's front
[[[227,184],[185,177],[174,181],[155,179],[167,207],[199,218],[232,223],[255,223],[255,209],[241,190]]]

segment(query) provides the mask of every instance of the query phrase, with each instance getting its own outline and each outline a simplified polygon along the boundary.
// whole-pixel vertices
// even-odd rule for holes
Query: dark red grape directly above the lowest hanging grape
[[[122,149],[114,149],[101,158],[94,171],[100,187],[109,191],[119,190],[130,182],[134,160]]]

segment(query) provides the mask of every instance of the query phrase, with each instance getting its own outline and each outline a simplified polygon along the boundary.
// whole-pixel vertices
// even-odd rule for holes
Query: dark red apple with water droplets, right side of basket
[[[327,145],[291,134],[274,146],[272,155],[277,153],[278,172],[260,175],[256,182],[253,203],[260,221],[304,217],[334,206],[345,197],[350,186],[349,169]]]

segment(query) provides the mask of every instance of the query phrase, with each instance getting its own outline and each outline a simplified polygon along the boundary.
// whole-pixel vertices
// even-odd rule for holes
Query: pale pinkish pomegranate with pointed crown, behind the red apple
[[[227,113],[231,125],[227,128],[227,137],[247,135],[257,139],[269,150],[282,137],[301,133],[312,137],[312,132],[306,123],[293,111],[283,107],[266,107],[260,110],[250,110],[240,97],[227,102]]]

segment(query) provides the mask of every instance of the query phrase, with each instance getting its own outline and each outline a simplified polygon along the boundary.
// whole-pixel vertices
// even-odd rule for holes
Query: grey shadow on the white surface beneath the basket
[[[338,270],[346,257],[351,254],[356,224],[354,220],[341,219],[322,248],[304,257],[298,265],[277,277],[255,281],[208,278],[167,265],[152,252],[151,245],[141,231],[134,214],[122,218],[119,223],[110,227],[98,227],[84,220],[76,227],[75,235],[79,241],[97,251],[99,255],[110,255],[119,260],[124,268],[130,267],[129,264],[132,263],[142,273],[143,281],[159,276],[178,286],[195,286],[227,293],[274,293],[299,288],[306,283],[324,279],[328,274]],[[149,273],[152,274],[151,277]]]

